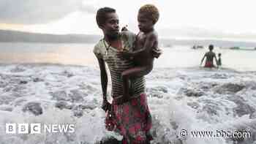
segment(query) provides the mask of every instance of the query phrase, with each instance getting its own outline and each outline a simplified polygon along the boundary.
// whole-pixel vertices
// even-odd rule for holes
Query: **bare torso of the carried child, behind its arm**
[[[134,50],[140,50],[141,48],[143,48],[143,46],[145,45],[146,39],[151,34],[156,34],[156,32],[151,31],[151,32],[145,34],[145,33],[140,31],[138,36],[137,36],[137,40],[135,42]],[[134,57],[134,61],[135,61],[136,65],[143,66],[143,67],[153,65],[154,57],[152,55],[152,49],[157,48],[158,41],[157,41],[157,39],[151,39],[151,40],[154,41],[153,46],[151,48],[146,48],[146,50],[143,51],[143,53],[140,53],[140,54],[138,54],[137,56]]]

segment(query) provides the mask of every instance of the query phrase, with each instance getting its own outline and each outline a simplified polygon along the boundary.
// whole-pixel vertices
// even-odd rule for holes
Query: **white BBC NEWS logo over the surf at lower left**
[[[5,124],[6,134],[73,133],[75,124]]]

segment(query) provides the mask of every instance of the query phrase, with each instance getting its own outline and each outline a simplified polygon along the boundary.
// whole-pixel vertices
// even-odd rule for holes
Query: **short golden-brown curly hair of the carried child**
[[[148,18],[153,20],[154,24],[157,23],[159,19],[159,10],[153,4],[143,5],[142,7],[140,7],[139,13],[140,12],[146,12]]]

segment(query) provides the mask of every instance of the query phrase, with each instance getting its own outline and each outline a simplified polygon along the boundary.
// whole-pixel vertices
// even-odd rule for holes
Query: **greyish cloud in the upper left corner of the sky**
[[[82,0],[1,0],[0,23],[38,24],[64,18],[71,12],[93,13]]]

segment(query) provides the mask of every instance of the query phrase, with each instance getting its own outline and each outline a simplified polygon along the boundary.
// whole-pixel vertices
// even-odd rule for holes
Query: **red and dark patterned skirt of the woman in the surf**
[[[105,119],[106,129],[116,130],[123,135],[123,144],[145,144],[153,140],[151,129],[151,114],[148,109],[146,94],[130,99],[121,105],[113,100],[112,110]]]

